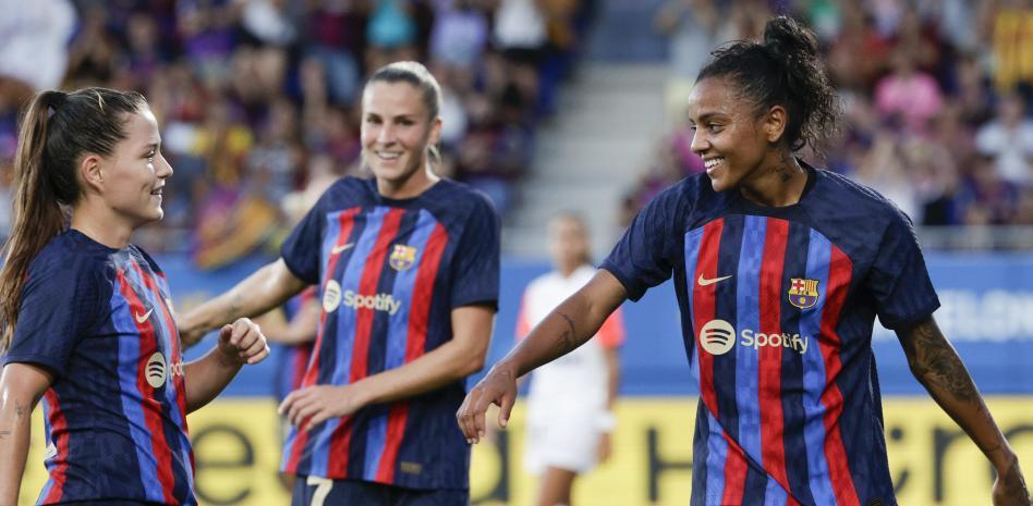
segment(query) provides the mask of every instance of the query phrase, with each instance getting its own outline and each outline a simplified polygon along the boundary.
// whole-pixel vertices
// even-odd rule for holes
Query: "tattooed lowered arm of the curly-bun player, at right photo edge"
[[[914,377],[993,462],[997,470],[994,505],[1029,506],[1030,492],[1019,469],[1018,456],[1005,440],[968,369],[936,321],[929,317],[911,329],[898,331],[897,336],[903,345]]]

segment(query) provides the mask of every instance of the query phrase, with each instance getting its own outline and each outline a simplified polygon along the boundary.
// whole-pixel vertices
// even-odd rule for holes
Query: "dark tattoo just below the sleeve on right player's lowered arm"
[[[911,369],[926,386],[944,390],[958,400],[980,402],[980,393],[969,371],[935,322],[914,328],[909,338],[903,340],[903,346]]]

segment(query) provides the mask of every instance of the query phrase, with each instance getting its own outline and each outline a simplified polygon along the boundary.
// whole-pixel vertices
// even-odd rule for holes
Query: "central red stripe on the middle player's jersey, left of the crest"
[[[388,256],[388,249],[391,242],[398,235],[398,227],[402,222],[403,209],[391,209],[384,217],[384,224],[380,225],[380,233],[377,235],[377,242],[366,259],[366,266],[358,281],[360,296],[375,296],[377,285],[380,283],[380,273],[384,272],[384,260]],[[352,345],[352,363],[349,383],[355,383],[366,378],[366,362],[369,358],[369,338],[373,332],[374,310],[370,308],[357,308],[355,310],[355,342]],[[338,367],[344,367],[340,363]],[[327,473],[330,477],[344,478],[348,474],[349,451],[352,443],[352,417],[344,417],[330,435],[330,455],[336,458],[328,466]]]

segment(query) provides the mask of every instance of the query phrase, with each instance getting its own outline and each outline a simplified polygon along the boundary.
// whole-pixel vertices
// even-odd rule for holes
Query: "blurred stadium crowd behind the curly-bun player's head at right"
[[[787,5],[788,3],[788,5]],[[624,201],[625,220],[703,171],[682,102],[707,48],[759,37],[775,10],[815,27],[843,104],[818,166],[891,198],[921,225],[1033,224],[1033,2],[670,0],[676,118]]]

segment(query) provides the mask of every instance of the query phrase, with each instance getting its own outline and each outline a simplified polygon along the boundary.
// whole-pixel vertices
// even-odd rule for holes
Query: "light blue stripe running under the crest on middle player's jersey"
[[[421,259],[427,250],[427,242],[437,221],[425,209],[420,210],[416,227],[409,238],[408,246],[416,248],[416,259],[412,267],[399,271],[394,276],[394,287],[391,294],[401,301],[398,312],[388,320],[387,357],[384,370],[396,369],[405,363],[405,348],[409,345],[409,316],[412,312],[413,291],[416,287],[416,273]],[[366,461],[363,477],[367,480],[376,478],[380,466],[380,456],[387,443],[387,421],[389,411],[385,411],[369,421],[366,432]]]

